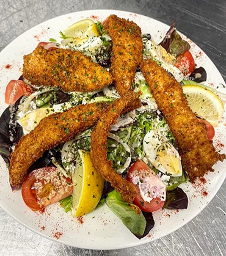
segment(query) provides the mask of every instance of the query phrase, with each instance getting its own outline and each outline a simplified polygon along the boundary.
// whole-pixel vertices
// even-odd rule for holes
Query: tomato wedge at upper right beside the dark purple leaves
[[[186,76],[195,70],[195,60],[189,51],[185,51],[177,57],[175,66]]]

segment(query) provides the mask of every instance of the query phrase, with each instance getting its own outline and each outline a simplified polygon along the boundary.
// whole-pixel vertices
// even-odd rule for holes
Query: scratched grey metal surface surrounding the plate
[[[126,10],[166,24],[177,18],[177,29],[197,43],[226,78],[225,0],[0,0],[0,51],[18,35],[49,18],[89,9]],[[47,240],[0,208],[0,255],[225,256],[225,202],[226,181],[208,207],[177,232],[142,246],[114,251],[78,249]]]

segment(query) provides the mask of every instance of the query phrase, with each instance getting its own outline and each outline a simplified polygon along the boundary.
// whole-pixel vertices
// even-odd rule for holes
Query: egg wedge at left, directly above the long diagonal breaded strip
[[[53,114],[53,108],[39,108],[32,112],[25,114],[19,121],[20,125],[23,127],[24,133],[27,134],[35,128],[36,125],[44,117]]]

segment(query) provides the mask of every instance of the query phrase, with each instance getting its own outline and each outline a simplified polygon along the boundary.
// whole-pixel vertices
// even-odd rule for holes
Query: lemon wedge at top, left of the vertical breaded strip
[[[81,20],[65,29],[64,35],[75,45],[86,42],[90,37],[99,35],[96,24],[90,20]]]

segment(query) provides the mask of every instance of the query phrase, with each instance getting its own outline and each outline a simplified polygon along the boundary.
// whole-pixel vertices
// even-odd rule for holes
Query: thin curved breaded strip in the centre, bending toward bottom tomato
[[[111,126],[117,123],[118,117],[125,112],[141,106],[139,94],[129,90],[125,96],[118,98],[103,112],[97,126],[91,134],[90,156],[93,166],[102,177],[122,194],[126,202],[133,202],[136,197],[136,188],[129,181],[117,174],[112,167],[112,161],[107,158],[107,137]]]

